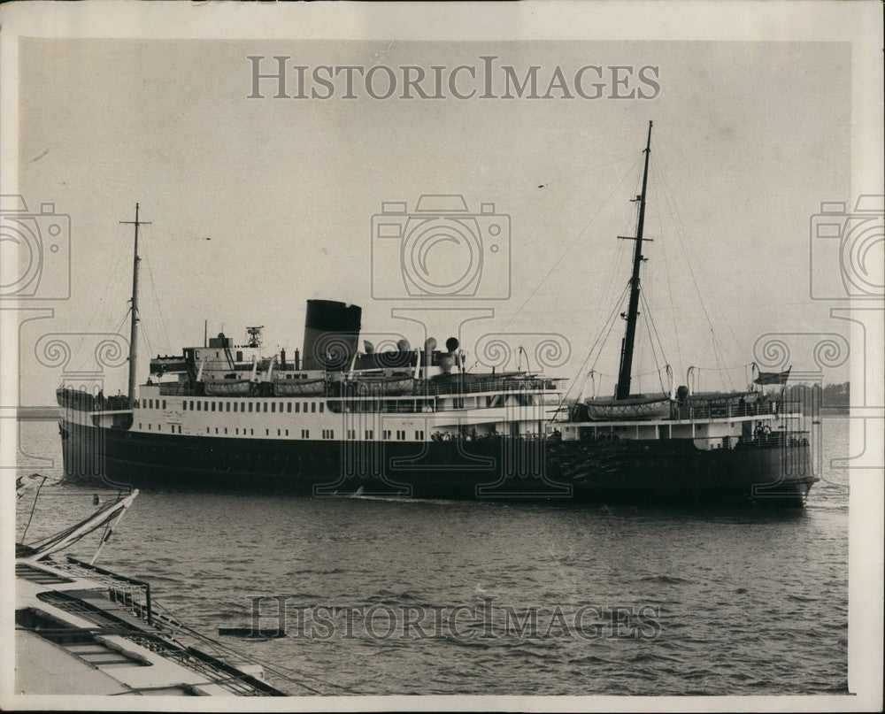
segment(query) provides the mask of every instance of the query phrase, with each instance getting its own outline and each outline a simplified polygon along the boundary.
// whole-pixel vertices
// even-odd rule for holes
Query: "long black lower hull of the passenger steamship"
[[[807,444],[696,449],[692,441],[280,441],[60,425],[69,480],[548,503],[797,507]]]

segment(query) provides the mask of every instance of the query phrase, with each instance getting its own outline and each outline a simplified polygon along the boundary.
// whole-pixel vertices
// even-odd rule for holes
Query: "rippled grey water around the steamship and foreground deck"
[[[19,426],[23,460],[60,478],[58,426]],[[150,580],[158,603],[211,636],[249,626],[250,598],[289,596],[289,636],[219,639],[272,663],[268,679],[292,694],[307,692],[281,672],[324,694],[844,693],[847,475],[828,462],[848,453],[847,419],[825,418],[822,438],[825,480],[800,512],[142,491],[100,564]],[[26,541],[88,515],[94,491],[47,483]],[[19,503],[19,535],[32,503]],[[75,552],[91,556],[96,540]],[[358,622],[347,638],[342,618],[327,639],[296,636],[294,626],[296,606],[384,605],[401,618],[408,606],[450,613],[442,609],[482,598],[520,620],[539,608],[538,633],[557,606],[566,627],[582,606],[603,619],[650,606],[657,636],[567,637],[560,628],[519,637],[502,629],[499,610],[490,638],[468,639],[469,613],[456,622],[462,636],[425,639],[415,629],[373,638]],[[375,633],[387,632],[386,612],[375,610]],[[428,622],[426,632],[445,632]]]

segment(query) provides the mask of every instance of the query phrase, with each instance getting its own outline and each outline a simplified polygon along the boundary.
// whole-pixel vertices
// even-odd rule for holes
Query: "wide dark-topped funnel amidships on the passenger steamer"
[[[308,300],[302,369],[347,369],[357,354],[362,315],[359,305]]]

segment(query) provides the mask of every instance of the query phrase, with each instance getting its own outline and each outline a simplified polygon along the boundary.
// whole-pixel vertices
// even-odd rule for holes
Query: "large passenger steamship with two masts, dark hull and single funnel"
[[[138,205],[128,390],[58,389],[65,475],[138,488],[270,489],[296,495],[510,499],[651,506],[805,503],[818,480],[786,372],[743,390],[632,390],[651,127],[614,393],[569,398],[530,369],[473,372],[450,337],[360,350],[362,311],[308,300],[300,350],[221,333],[155,357],[138,384]],[[622,237],[622,236],[619,236]],[[644,299],[644,296],[643,296]],[[766,387],[768,390],[766,391]]]

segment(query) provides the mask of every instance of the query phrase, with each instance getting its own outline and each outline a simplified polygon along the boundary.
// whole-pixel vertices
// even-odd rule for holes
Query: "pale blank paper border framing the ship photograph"
[[[852,48],[851,196],[881,193],[883,183],[881,3],[857,2],[522,2],[266,4],[177,2],[19,2],[0,7],[0,192],[19,193],[19,38],[142,38],[255,40],[643,40],[741,42],[850,42]],[[3,305],[4,311],[8,310]],[[16,329],[0,311],[0,404],[17,391]],[[866,317],[865,319],[869,319]],[[862,346],[860,328],[852,346]],[[873,394],[852,404],[885,403],[881,384],[881,319],[867,330]],[[854,350],[852,350],[854,354]],[[869,367],[868,367],[869,369]],[[860,372],[858,372],[858,370]],[[852,363],[851,382],[863,383],[864,365]],[[866,402],[857,401],[863,400]],[[870,418],[881,419],[878,412]],[[14,419],[2,419],[0,464],[14,464]],[[869,437],[864,419],[851,420],[852,453]],[[881,439],[881,430],[873,430]],[[878,444],[866,443],[879,449]],[[877,710],[882,697],[882,474],[865,472],[850,486],[849,688],[851,695],[613,697],[613,696],[366,696],[284,700],[189,699],[189,710]],[[2,487],[2,572],[12,573],[15,505],[12,480]],[[14,689],[14,587],[0,594],[0,704],[4,709],[178,710],[181,699],[158,697],[17,696]]]

